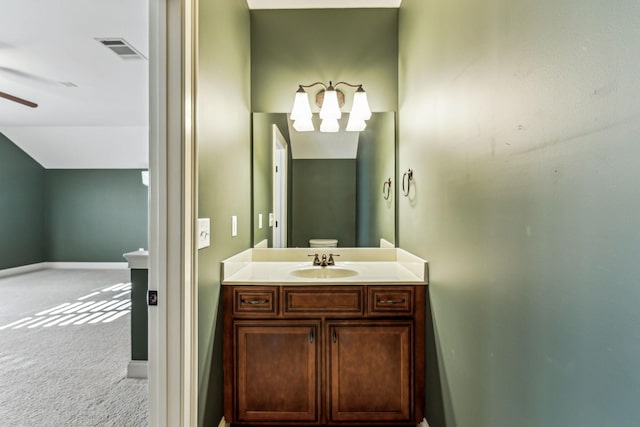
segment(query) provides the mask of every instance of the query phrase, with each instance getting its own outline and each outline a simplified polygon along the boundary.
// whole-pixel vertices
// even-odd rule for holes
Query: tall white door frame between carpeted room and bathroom
[[[197,425],[197,0],[149,1],[149,425]]]

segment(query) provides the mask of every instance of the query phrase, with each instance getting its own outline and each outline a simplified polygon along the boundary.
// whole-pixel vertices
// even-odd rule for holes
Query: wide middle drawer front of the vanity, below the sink
[[[362,286],[333,288],[288,287],[283,292],[283,312],[287,314],[363,314]]]

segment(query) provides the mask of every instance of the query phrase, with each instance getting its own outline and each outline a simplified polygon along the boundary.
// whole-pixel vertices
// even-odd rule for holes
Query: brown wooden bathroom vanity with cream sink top
[[[307,259],[329,251],[335,265]],[[426,261],[401,249],[250,249],[224,261],[226,421],[420,423],[427,282]]]

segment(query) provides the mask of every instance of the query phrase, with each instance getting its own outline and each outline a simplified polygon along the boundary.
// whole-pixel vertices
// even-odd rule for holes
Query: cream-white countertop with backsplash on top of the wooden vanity
[[[311,249],[314,251],[315,249]],[[248,251],[256,251],[249,249]],[[375,253],[373,261],[367,261],[369,258],[366,253],[358,253],[353,249],[349,251],[340,251],[339,249],[331,249],[333,254],[341,256],[340,261],[336,261],[335,266],[313,266],[311,259],[307,258],[309,249],[304,249],[304,258],[293,256],[294,260],[286,261],[283,257],[278,256],[271,259],[271,256],[265,256],[264,251],[258,253],[247,253],[247,251],[238,254],[222,262],[221,281],[223,285],[260,285],[260,284],[285,284],[285,285],[354,285],[354,284],[412,284],[426,285],[428,283],[427,262],[414,255],[404,253],[396,256],[395,251],[401,249],[379,251]],[[277,251],[277,250],[276,250]],[[323,251],[323,249],[320,249]],[[370,251],[370,250],[369,250]],[[282,254],[281,252],[274,252]],[[302,254],[294,254],[302,255]],[[384,256],[383,256],[384,255]],[[297,259],[296,259],[297,258]],[[346,260],[345,260],[346,259]],[[298,277],[294,274],[296,270],[317,269],[320,275],[323,273],[331,273],[331,269],[348,269],[352,270],[353,275],[348,277],[332,277],[332,278],[305,278]]]

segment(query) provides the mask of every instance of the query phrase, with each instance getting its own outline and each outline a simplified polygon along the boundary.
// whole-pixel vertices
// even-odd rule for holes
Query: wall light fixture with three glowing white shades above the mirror
[[[353,107],[349,114],[347,131],[360,132],[364,130],[367,126],[365,121],[371,118],[371,109],[367,101],[367,93],[361,84],[351,84],[347,82],[338,82],[335,85],[329,82],[329,86],[326,86],[322,82],[298,85],[291,110],[291,120],[293,120],[293,128],[295,130],[298,132],[315,130],[311,122],[312,113],[309,105],[309,97],[304,89],[318,85],[324,88],[316,94],[316,104],[320,107],[320,118],[322,119],[320,132],[338,132],[338,130],[340,130],[338,119],[342,117],[340,107],[344,105],[344,93],[336,89],[339,85],[357,88],[353,96]]]

